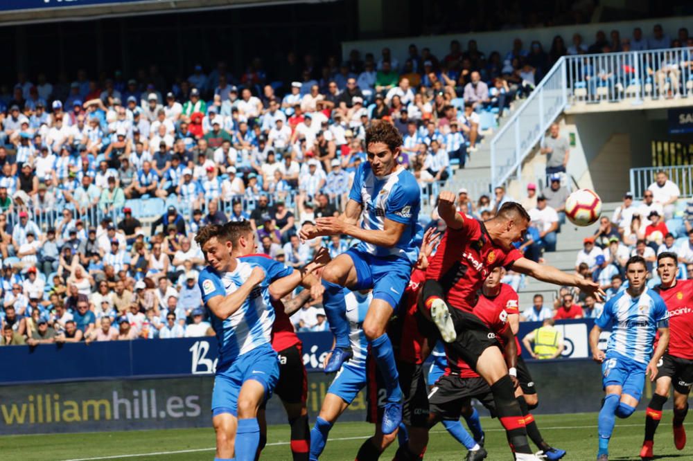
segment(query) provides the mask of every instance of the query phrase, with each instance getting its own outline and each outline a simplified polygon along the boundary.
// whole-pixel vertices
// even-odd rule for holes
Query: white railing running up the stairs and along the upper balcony
[[[519,177],[525,157],[569,105],[688,98],[693,48],[561,57],[491,140],[491,183]],[[604,110],[608,110],[608,106]]]

